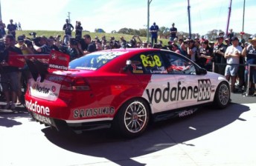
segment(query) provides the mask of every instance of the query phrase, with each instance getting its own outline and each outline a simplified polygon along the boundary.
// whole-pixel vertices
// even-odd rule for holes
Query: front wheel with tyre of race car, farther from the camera
[[[227,107],[229,101],[230,101],[229,85],[226,82],[221,82],[217,87],[217,91],[215,93],[214,104],[216,104],[218,108],[223,109]]]

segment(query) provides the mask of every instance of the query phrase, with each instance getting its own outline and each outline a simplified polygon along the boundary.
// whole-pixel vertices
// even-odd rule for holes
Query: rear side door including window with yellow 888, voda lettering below
[[[160,51],[140,53],[131,61],[132,73],[144,86],[142,97],[150,103],[153,113],[175,109],[177,101],[170,94],[176,78],[167,73]]]

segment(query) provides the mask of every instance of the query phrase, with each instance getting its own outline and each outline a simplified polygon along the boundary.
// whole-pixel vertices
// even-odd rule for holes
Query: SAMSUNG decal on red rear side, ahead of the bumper
[[[95,117],[103,115],[113,115],[115,113],[115,107],[97,107],[88,109],[76,109],[74,110],[74,118],[83,117]]]

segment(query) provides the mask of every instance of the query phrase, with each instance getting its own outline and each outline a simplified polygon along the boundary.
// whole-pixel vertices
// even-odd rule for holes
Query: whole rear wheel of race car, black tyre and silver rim
[[[126,102],[115,117],[114,127],[126,138],[135,138],[146,130],[150,120],[150,108],[143,99]]]

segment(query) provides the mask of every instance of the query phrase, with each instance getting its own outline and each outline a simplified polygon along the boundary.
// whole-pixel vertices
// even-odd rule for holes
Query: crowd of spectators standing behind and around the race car
[[[132,36],[130,40],[124,39],[124,36],[120,36],[120,39],[111,37],[109,41],[106,40],[106,36],[101,38],[95,36],[92,39],[89,34],[82,35],[83,27],[80,21],[76,21],[76,25],[73,27],[68,19],[65,20],[63,25],[63,31],[65,32],[63,37],[60,35],[36,36],[36,33],[31,33],[33,39],[28,39],[25,35],[16,38],[15,31],[18,30],[19,26],[13,24],[12,19],[10,19],[10,24],[7,25],[7,34],[4,28],[5,24],[0,21],[0,37],[4,39],[4,42],[0,42],[1,86],[7,101],[4,109],[13,110],[16,104],[21,104],[20,80],[22,69],[7,64],[10,52],[25,55],[49,54],[51,50],[59,50],[68,54],[70,60],[73,60],[97,50],[115,48],[153,47],[172,50],[188,57],[188,59],[208,71],[220,73],[226,79],[231,79],[232,93],[245,90],[246,82],[249,79],[249,93],[256,96],[256,67],[251,68],[250,76],[247,78],[248,64],[256,64],[256,36],[252,36],[252,39],[246,42],[243,39],[243,33],[240,34],[239,40],[230,30],[231,33],[228,33],[227,37],[224,37],[224,34],[219,34],[216,41],[208,41],[208,39],[199,37],[178,39],[177,28],[173,23],[170,27],[170,41],[167,45],[163,45],[161,40],[157,41],[159,27],[156,22],[150,27],[150,33],[152,33],[150,43],[141,41],[139,36]],[[72,36],[73,30],[75,36]]]

